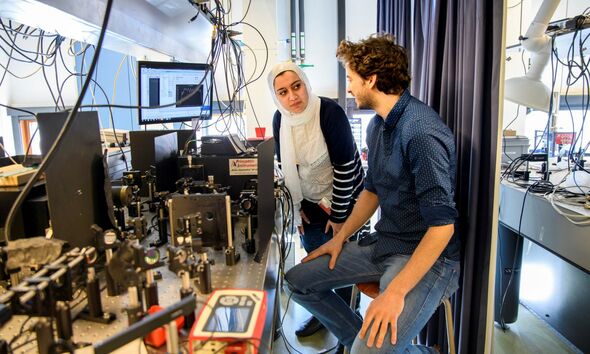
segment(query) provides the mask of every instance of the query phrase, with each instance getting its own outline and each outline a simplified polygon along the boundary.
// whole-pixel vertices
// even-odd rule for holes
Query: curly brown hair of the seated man
[[[406,50],[390,34],[374,34],[357,43],[344,40],[336,57],[363,79],[377,75],[377,89],[386,94],[401,94],[410,85]]]

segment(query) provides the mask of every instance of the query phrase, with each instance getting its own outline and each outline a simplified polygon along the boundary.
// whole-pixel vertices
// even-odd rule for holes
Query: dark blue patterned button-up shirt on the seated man
[[[454,137],[430,107],[406,90],[387,118],[367,128],[365,188],[379,198],[374,258],[412,254],[430,226],[454,224]],[[441,257],[459,259],[454,235]]]

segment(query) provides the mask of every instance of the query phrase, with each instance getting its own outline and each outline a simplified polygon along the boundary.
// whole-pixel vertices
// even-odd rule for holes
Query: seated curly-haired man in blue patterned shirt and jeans
[[[365,190],[340,232],[285,278],[293,299],[352,353],[435,353],[411,342],[458,288],[453,134],[408,92],[407,55],[392,36],[343,41],[337,57],[357,106],[376,112]],[[374,242],[347,243],[379,207]],[[380,294],[363,321],[332,289],[364,282],[379,282]]]

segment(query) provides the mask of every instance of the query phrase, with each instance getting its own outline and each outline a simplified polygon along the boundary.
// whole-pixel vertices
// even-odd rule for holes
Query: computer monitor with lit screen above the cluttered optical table
[[[211,119],[213,86],[210,65],[138,61],[137,66],[140,106],[159,107],[140,108],[139,124]]]

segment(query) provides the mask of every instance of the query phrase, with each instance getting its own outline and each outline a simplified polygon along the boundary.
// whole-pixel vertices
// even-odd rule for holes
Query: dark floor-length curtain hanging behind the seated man
[[[411,55],[411,92],[453,130],[462,240],[461,288],[453,298],[459,353],[483,353],[495,188],[503,2],[378,0],[377,31]],[[434,318],[426,344],[441,343]],[[442,333],[441,333],[442,332]],[[446,346],[446,343],[445,343]]]

